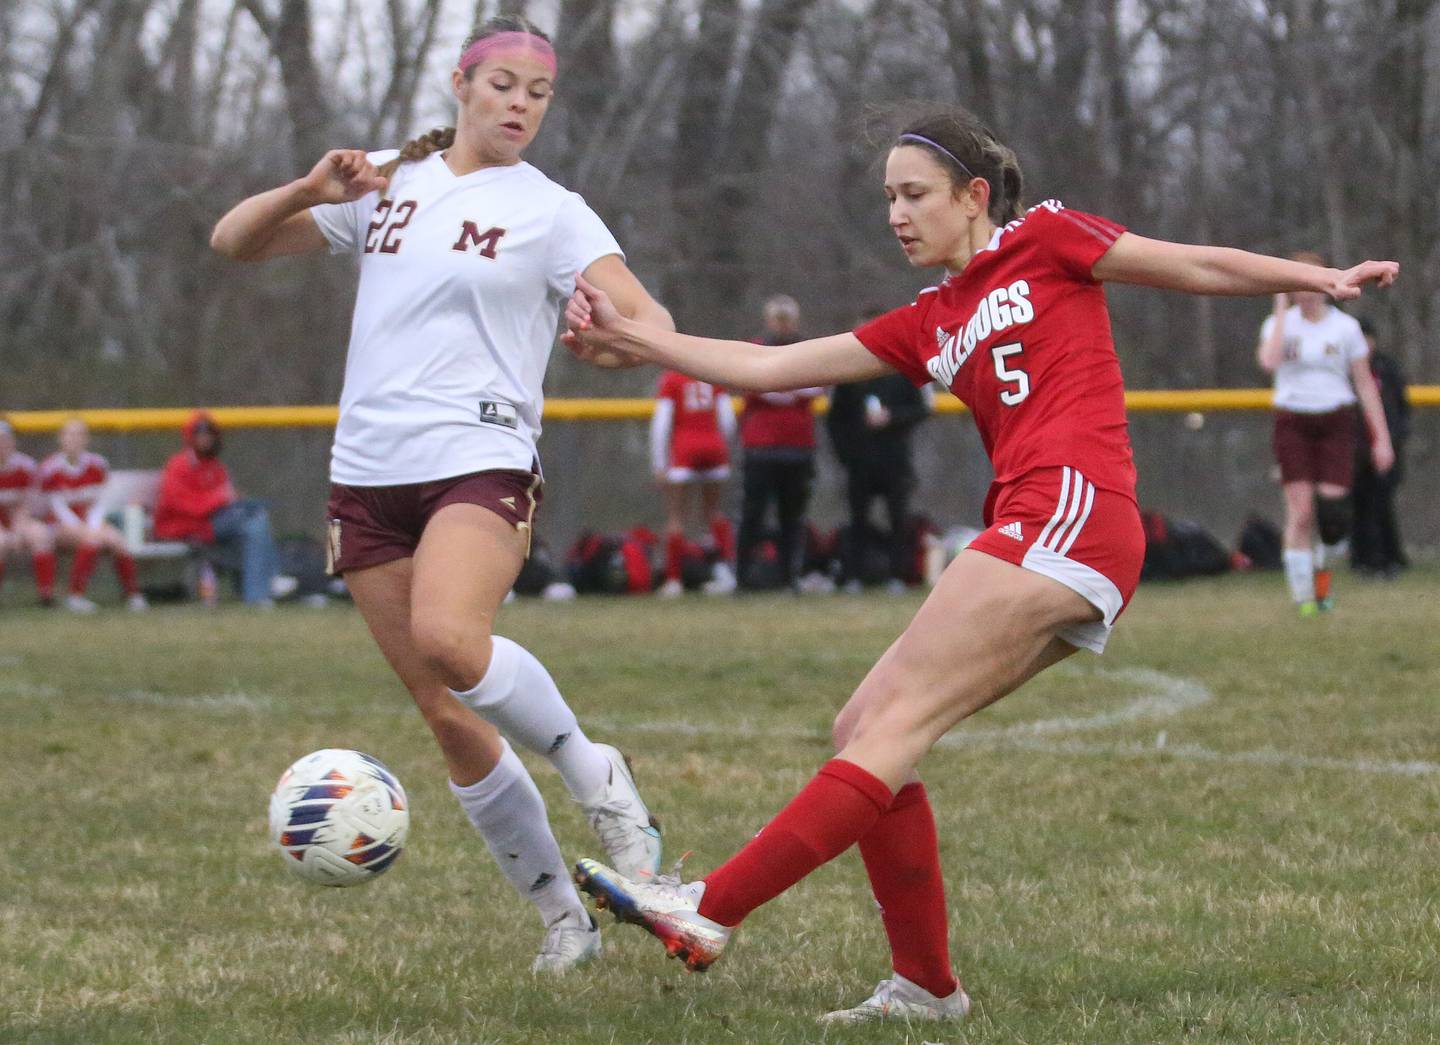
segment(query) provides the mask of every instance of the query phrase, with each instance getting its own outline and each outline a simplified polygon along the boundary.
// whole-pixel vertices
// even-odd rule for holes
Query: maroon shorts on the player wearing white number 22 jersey
[[[325,505],[330,571],[341,574],[409,558],[420,543],[425,524],[448,504],[478,504],[495,512],[526,534],[528,556],[540,499],[539,472],[501,468],[400,487],[331,484]]]

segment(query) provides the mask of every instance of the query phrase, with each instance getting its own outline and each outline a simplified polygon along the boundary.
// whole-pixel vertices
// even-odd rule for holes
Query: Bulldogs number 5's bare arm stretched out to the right
[[[1139,284],[1188,294],[1254,295],[1318,291],[1336,301],[1358,298],[1365,284],[1390,286],[1400,263],[1367,261],[1349,269],[1267,258],[1225,246],[1191,246],[1126,232],[1094,263],[1104,282]]]

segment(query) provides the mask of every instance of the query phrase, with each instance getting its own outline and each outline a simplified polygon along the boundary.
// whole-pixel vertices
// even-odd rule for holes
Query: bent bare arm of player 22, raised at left
[[[350,203],[384,186],[364,150],[333,148],[305,177],[235,204],[210,233],[210,248],[235,261],[318,253],[328,243],[310,209]]]

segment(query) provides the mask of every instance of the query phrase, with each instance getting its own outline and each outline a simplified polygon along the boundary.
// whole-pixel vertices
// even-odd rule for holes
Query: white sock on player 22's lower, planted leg
[[[451,780],[451,792],[500,871],[536,905],[546,926],[567,911],[585,910],[550,833],[544,799],[510,744],[488,774],[468,787]]]

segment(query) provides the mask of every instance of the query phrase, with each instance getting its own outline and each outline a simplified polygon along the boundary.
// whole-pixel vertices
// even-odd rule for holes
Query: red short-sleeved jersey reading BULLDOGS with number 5
[[[1120,361],[1104,289],[1090,273],[1123,232],[1045,200],[998,229],[963,272],[855,337],[971,409],[996,485],[1068,465],[1133,499]]]

